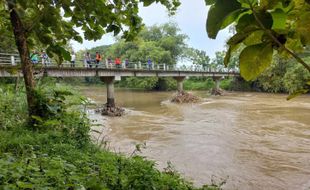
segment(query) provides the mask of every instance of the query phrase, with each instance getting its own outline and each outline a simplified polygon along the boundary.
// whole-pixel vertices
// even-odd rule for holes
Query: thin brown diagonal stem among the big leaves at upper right
[[[304,60],[302,60],[295,52],[293,52],[292,50],[288,49],[287,47],[285,47],[272,33],[270,30],[268,30],[263,23],[259,20],[253,5],[251,4],[251,2],[249,0],[247,0],[248,4],[250,5],[250,9],[253,12],[254,18],[256,20],[256,22],[259,24],[259,26],[266,31],[266,33],[268,34],[268,36],[274,41],[276,42],[281,48],[283,48],[285,51],[287,51],[290,55],[292,55],[300,64],[302,64],[309,72],[310,72],[310,66],[304,62]]]

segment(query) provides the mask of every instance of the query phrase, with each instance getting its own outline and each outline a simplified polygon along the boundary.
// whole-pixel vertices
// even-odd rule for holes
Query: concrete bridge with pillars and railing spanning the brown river
[[[1,55],[1,54],[0,54]],[[0,57],[1,58],[1,57]],[[10,56],[7,61],[0,59],[0,77],[22,77],[20,64]],[[115,65],[103,63],[92,65],[92,68],[84,67],[84,64],[77,64],[73,67],[70,63],[61,66],[55,64],[34,66],[35,76],[49,77],[100,77],[107,87],[107,106],[115,107],[114,81],[121,80],[121,77],[173,77],[177,81],[177,89],[183,91],[183,81],[188,77],[212,77],[216,82],[215,88],[219,88],[220,79],[228,76],[239,76],[239,72],[228,70],[188,69],[184,67],[167,66],[165,64],[154,64],[152,66],[142,63],[122,64],[120,68]]]

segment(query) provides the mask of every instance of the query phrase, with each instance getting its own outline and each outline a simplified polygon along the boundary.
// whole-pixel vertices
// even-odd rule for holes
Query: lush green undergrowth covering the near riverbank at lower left
[[[38,82],[42,114],[34,125],[27,123],[24,87],[2,81],[0,91],[0,189],[219,189],[195,188],[172,167],[161,172],[141,156],[93,144],[87,101],[68,85]]]

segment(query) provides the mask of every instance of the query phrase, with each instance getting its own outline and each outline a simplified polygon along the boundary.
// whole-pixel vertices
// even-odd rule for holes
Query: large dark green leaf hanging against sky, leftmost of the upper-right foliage
[[[241,4],[236,0],[217,0],[208,13],[206,25],[208,36],[215,39],[220,29],[238,18],[240,11],[242,11]]]

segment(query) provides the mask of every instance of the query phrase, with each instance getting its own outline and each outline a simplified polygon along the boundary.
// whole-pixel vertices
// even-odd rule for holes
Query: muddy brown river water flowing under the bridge
[[[82,92],[103,104],[105,89]],[[201,103],[176,105],[172,92],[116,91],[128,114],[106,118],[110,148],[130,154],[146,142],[142,155],[158,168],[172,165],[196,185],[226,181],[224,189],[310,188],[310,97],[228,93],[196,95]],[[99,129],[99,128],[98,128]]]

